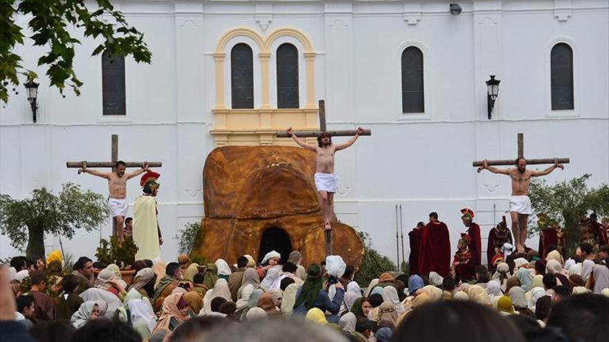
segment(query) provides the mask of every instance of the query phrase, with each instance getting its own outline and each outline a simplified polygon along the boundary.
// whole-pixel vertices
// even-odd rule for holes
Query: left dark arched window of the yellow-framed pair
[[[253,53],[248,44],[230,50],[230,88],[233,109],[254,108]]]

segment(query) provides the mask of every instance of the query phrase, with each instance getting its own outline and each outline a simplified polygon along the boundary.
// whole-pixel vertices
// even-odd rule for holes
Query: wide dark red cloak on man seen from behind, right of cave
[[[419,253],[419,274],[437,272],[448,276],[451,269],[451,238],[444,222],[429,222],[421,233]]]

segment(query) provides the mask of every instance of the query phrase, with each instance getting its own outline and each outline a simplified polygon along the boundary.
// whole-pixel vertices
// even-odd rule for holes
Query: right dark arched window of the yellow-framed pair
[[[277,49],[277,108],[299,108],[298,49],[284,43]]]

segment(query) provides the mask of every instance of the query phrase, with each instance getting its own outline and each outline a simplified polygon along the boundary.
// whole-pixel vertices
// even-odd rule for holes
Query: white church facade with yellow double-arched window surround
[[[516,158],[517,133],[525,133],[525,157],[571,158],[549,182],[583,173],[590,186],[609,182],[606,0],[112,3],[145,33],[152,64],[91,57],[96,42],[82,38],[74,66],[82,95],[64,98],[36,67],[39,51],[19,47],[24,67],[40,76],[39,108],[34,123],[25,88],[0,108],[0,193],[24,198],[77,182],[107,194],[104,180],[77,175],[66,161],[109,160],[118,134],[121,160],[163,162],[163,258],[177,254],[176,231],[203,216],[208,153],[292,144],[274,132],[317,129],[319,99],[329,129],[372,129],[336,156],[336,214],[393,260],[396,206],[406,258],[406,234],[431,211],[447,223],[454,252],[460,209],[473,209],[485,246],[511,187],[505,176],[476,173],[472,161]],[[500,84],[489,114],[491,75]],[[131,205],[139,191],[131,180]],[[93,256],[99,236],[79,231],[62,243]],[[46,245],[58,247],[57,237]],[[15,254],[0,236],[0,257]]]

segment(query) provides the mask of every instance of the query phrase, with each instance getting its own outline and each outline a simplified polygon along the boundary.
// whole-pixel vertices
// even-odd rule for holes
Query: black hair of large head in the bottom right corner
[[[600,294],[568,296],[552,306],[547,325],[573,341],[601,342],[609,335],[609,298]],[[577,319],[574,319],[574,314]]]

